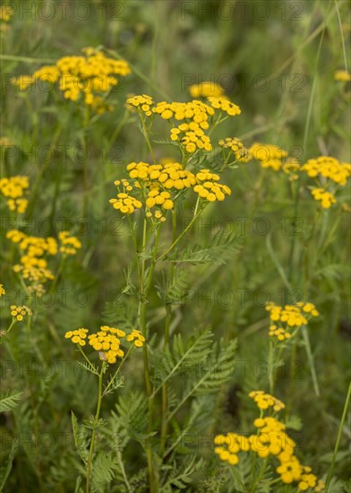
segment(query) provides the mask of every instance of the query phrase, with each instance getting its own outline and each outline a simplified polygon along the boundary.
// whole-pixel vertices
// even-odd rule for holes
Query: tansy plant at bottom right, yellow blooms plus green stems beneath
[[[324,482],[312,473],[310,466],[300,463],[296,443],[287,434],[288,425],[280,418],[285,404],[271,394],[253,391],[249,394],[260,415],[254,419],[253,434],[215,437],[215,453],[232,470],[235,491],[254,493],[270,487],[273,491],[323,491]],[[249,466],[249,467],[247,467]],[[238,471],[236,471],[238,470]],[[270,471],[275,471],[272,477]],[[277,478],[278,475],[278,478]],[[291,489],[287,489],[291,485]]]

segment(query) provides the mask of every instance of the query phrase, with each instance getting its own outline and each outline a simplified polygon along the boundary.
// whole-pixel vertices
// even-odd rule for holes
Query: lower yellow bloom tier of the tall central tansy
[[[230,188],[218,183],[219,176],[211,173],[210,169],[201,169],[195,175],[172,160],[162,164],[132,162],[126,169],[133,179],[133,185],[126,179],[116,180],[117,198],[109,201],[115,209],[126,214],[132,214],[144,205],[147,218],[165,221],[163,213],[174,208],[175,198],[185,189],[193,189],[193,192],[209,202],[223,201],[226,195],[231,194]],[[141,200],[130,195],[133,190],[139,191]],[[154,208],[156,212],[153,214],[151,210]]]

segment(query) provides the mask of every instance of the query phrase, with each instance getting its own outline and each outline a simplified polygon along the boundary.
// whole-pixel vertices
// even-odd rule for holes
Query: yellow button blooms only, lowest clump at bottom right
[[[231,465],[239,463],[240,453],[256,454],[261,459],[270,458],[278,461],[276,472],[285,484],[297,482],[300,491],[312,489],[321,491],[324,483],[312,474],[309,466],[300,463],[295,455],[295,442],[287,435],[286,426],[273,415],[264,416],[264,411],[272,408],[273,414],[285,408],[283,402],[262,391],[253,391],[253,397],[261,411],[259,418],[254,419],[253,426],[257,429],[253,435],[241,436],[235,433],[215,437],[215,453],[220,460]]]

